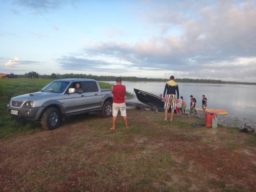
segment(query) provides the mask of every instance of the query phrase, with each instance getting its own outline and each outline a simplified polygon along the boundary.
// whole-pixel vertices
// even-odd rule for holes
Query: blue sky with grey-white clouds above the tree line
[[[0,0],[0,73],[256,82],[256,0]]]

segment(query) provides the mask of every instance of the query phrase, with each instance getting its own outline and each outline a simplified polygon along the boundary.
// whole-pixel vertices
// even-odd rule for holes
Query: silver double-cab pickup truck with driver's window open
[[[77,91],[75,85],[80,85]],[[113,95],[92,79],[54,80],[42,90],[12,97],[8,112],[21,121],[41,122],[43,128],[57,128],[64,117],[87,112],[112,116]]]

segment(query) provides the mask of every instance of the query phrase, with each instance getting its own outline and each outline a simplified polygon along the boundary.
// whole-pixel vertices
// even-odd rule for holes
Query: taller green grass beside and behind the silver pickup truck
[[[6,111],[6,105],[11,97],[39,91],[51,81],[52,79],[0,79],[0,138],[41,129],[40,124],[16,122]],[[104,82],[99,84],[102,89],[112,86]],[[130,93],[126,95],[131,96]]]

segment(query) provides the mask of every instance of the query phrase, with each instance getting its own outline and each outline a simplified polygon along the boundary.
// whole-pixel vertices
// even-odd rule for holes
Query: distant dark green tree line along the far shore
[[[16,78],[31,78],[31,79],[69,79],[69,78],[77,78],[77,79],[95,79],[98,81],[115,81],[116,76],[107,76],[107,75],[86,75],[86,74],[58,74],[52,73],[51,75],[39,75],[37,72],[31,71],[29,73],[25,73],[24,75],[15,75]],[[169,79],[162,78],[147,78],[147,77],[134,77],[134,76],[121,76],[123,81],[160,81],[165,82]],[[176,82],[181,83],[212,83],[212,84],[240,84],[240,85],[256,85],[256,83],[250,82],[237,82],[237,81],[223,81],[223,80],[209,80],[209,79],[189,79],[183,78],[175,79]]]

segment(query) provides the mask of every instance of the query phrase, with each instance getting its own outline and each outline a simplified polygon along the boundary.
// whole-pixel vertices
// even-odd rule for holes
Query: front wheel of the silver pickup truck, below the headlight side
[[[60,113],[55,107],[50,107],[46,109],[41,118],[41,125],[44,129],[53,130],[57,128],[60,124]]]

